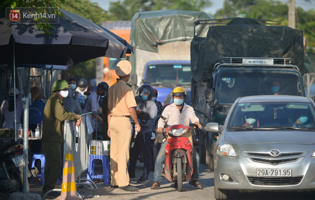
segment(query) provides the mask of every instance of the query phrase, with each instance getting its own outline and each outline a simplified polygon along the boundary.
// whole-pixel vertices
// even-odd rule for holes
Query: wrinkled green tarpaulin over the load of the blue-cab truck
[[[188,10],[155,10],[134,14],[131,19],[130,44],[134,48],[158,52],[158,45],[192,40],[193,22],[213,17],[205,12]],[[205,37],[208,26],[200,25],[196,33]]]

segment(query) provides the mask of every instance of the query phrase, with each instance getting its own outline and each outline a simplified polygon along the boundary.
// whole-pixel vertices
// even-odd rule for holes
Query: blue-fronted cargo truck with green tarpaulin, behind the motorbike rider
[[[213,19],[205,12],[188,10],[155,10],[136,13],[131,19],[130,44],[134,54],[130,83],[134,89],[144,83],[158,90],[158,100],[177,86],[190,87],[190,42],[193,22]],[[195,34],[205,37],[200,25]]]

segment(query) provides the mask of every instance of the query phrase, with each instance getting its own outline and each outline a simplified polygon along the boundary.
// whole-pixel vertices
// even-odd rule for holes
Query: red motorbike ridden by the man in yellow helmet
[[[183,181],[189,181],[193,172],[193,147],[189,139],[182,135],[187,132],[193,135],[195,127],[198,126],[194,124],[189,126],[172,125],[163,128],[163,133],[168,134],[171,138],[167,140],[165,148],[163,164],[165,174],[161,175],[170,182],[174,182],[179,192],[183,191]]]

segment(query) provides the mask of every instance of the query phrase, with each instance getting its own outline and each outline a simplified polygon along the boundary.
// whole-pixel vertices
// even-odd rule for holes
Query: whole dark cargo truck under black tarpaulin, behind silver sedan
[[[190,46],[191,103],[203,127],[209,122],[222,127],[238,97],[306,96],[303,32],[279,24],[246,18],[194,22],[195,28],[208,25],[207,36],[195,35]],[[199,132],[200,162],[210,170],[217,136]]]

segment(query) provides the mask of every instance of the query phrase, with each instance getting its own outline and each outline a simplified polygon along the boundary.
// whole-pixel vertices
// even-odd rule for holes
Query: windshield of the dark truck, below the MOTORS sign
[[[218,84],[220,105],[232,105],[239,97],[255,95],[304,96],[300,78],[294,73],[223,72]]]

